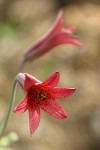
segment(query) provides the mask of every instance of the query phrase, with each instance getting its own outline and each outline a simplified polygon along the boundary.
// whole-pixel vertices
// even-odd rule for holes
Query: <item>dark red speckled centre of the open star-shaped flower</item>
[[[39,85],[31,86],[28,91],[28,98],[35,103],[41,103],[47,99],[47,92]]]

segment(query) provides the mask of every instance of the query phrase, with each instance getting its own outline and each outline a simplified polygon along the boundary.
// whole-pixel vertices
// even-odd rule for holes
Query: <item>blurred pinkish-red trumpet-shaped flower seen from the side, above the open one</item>
[[[25,53],[25,61],[35,59],[61,44],[73,44],[80,46],[80,41],[77,38],[70,36],[74,32],[72,27],[64,28],[61,30],[62,14],[63,12],[59,11],[54,25],[49,30],[49,32],[39,41],[33,44],[32,47]]]

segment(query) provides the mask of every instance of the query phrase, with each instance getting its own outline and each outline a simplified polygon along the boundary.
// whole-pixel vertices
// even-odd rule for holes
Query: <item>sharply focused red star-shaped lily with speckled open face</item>
[[[14,109],[15,113],[29,112],[29,127],[31,135],[37,129],[40,122],[40,109],[49,115],[66,119],[67,114],[57,103],[56,99],[62,99],[71,96],[76,88],[57,88],[59,82],[59,72],[55,72],[46,81],[40,82],[33,76],[25,73],[19,73],[17,81],[25,91],[24,100]]]

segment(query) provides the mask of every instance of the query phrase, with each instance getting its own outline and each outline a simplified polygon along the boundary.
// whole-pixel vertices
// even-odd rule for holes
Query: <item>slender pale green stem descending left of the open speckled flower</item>
[[[13,82],[12,95],[11,95],[10,103],[9,103],[9,106],[8,106],[8,110],[7,110],[5,119],[3,120],[3,123],[1,125],[0,138],[3,136],[4,131],[6,129],[6,126],[7,126],[7,123],[9,121],[9,117],[10,117],[10,114],[11,114],[11,109],[12,109],[13,101],[15,99],[15,94],[16,94],[16,85],[17,85],[17,80],[15,79],[14,82]]]

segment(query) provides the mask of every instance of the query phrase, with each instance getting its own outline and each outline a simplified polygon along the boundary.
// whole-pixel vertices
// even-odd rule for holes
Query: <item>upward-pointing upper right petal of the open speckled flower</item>
[[[60,79],[59,72],[55,72],[47,80],[42,82],[41,85],[55,87],[57,83],[59,82],[59,79]]]

